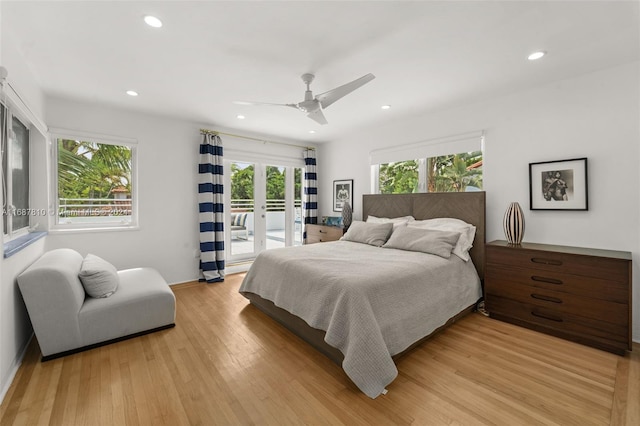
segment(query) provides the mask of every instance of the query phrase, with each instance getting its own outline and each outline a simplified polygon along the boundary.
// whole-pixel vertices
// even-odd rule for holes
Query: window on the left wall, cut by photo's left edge
[[[29,228],[29,128],[0,104],[2,123],[3,233],[9,238]]]

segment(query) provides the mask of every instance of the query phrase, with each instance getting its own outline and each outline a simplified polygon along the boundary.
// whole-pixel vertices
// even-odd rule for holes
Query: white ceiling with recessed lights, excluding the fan
[[[47,95],[308,142],[640,59],[637,1],[3,0],[0,7],[3,35],[18,42]],[[145,25],[147,14],[164,26]],[[548,54],[528,61],[539,49]],[[314,94],[369,72],[376,79],[327,108],[325,126],[293,108],[233,103],[299,102],[307,72],[316,75]],[[129,89],[140,96],[127,96]]]

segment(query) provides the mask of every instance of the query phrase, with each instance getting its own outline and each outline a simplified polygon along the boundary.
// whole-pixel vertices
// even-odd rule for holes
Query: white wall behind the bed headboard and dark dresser
[[[370,192],[371,150],[486,131],[487,241],[504,239],[508,204],[525,212],[529,242],[633,252],[633,338],[640,341],[640,64],[602,70],[448,111],[416,114],[320,150],[321,215],[332,181],[354,179],[354,217]],[[531,211],[531,162],[588,158],[589,211]]]

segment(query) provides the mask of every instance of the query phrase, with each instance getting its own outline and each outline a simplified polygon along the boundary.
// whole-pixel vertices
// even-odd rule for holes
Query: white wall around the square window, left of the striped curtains
[[[54,233],[47,249],[70,247],[91,252],[124,269],[156,268],[170,283],[198,279],[198,146],[200,128],[237,131],[108,106],[51,98],[46,104],[50,128],[137,140],[140,229],[119,232]],[[264,138],[267,136],[246,134]],[[302,158],[300,148],[222,135],[225,153]],[[283,141],[292,142],[292,141]]]

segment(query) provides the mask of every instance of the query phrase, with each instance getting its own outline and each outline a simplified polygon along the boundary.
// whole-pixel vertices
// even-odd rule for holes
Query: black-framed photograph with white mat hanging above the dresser
[[[587,159],[529,163],[531,210],[589,210]]]

